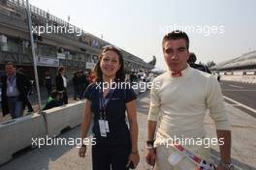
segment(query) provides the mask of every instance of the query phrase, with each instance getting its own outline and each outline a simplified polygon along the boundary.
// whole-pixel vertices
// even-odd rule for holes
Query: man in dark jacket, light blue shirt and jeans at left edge
[[[23,115],[27,93],[31,85],[24,74],[16,71],[14,63],[8,62],[6,71],[7,74],[1,77],[3,115],[11,113],[12,118],[16,119]]]

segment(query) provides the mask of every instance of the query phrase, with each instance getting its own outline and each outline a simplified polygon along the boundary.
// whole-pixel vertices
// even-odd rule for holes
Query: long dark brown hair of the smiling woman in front
[[[123,56],[122,56],[122,53],[121,51],[112,46],[112,45],[107,45],[105,47],[103,47],[101,53],[99,54],[99,57],[98,57],[98,61],[92,71],[93,73],[93,76],[94,76],[94,79],[93,81],[94,82],[100,82],[100,81],[103,81],[103,77],[102,77],[102,71],[101,71],[101,68],[100,68],[100,64],[101,64],[101,61],[102,61],[102,58],[103,58],[103,55],[107,52],[107,51],[113,51],[115,52],[118,56],[119,56],[119,64],[120,64],[120,68],[118,71],[116,71],[115,73],[115,81],[118,81],[118,82],[123,82],[124,81],[124,66],[123,66]]]

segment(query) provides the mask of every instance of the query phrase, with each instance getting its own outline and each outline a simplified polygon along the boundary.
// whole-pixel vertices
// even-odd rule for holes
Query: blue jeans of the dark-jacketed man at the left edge
[[[13,119],[23,116],[23,101],[16,98],[7,98],[8,108]]]

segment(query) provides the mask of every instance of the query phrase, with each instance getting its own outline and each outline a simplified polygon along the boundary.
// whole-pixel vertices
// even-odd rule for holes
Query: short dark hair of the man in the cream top
[[[189,48],[188,36],[185,32],[182,32],[182,31],[179,31],[179,30],[173,31],[173,32],[168,33],[167,35],[165,35],[165,37],[163,38],[163,41],[162,41],[163,49],[164,49],[165,42],[172,41],[172,40],[178,40],[178,39],[184,39],[186,41],[186,48],[188,50],[188,48]]]

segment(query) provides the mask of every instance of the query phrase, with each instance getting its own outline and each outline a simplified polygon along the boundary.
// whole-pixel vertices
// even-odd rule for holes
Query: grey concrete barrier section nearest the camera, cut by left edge
[[[46,123],[42,115],[34,114],[0,124],[0,165],[11,160],[13,155],[31,146],[32,138],[47,135]]]

